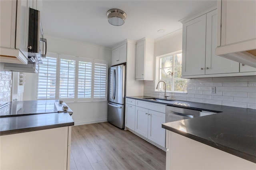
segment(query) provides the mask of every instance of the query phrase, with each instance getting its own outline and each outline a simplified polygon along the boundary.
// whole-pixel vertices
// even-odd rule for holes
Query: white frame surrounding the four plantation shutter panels
[[[56,87],[55,87],[55,98],[56,100],[61,99],[65,102],[89,102],[89,101],[107,101],[107,81],[108,81],[108,62],[104,60],[98,60],[98,59],[90,59],[85,57],[77,57],[72,55],[64,55],[64,54],[57,54],[57,53],[47,53],[47,57],[52,57],[57,59],[57,66],[56,66]],[[70,59],[75,60],[75,92],[74,92],[74,98],[59,98],[60,97],[60,59]],[[79,67],[79,61],[84,62],[90,62],[92,63],[92,75],[91,75],[91,96],[90,98],[78,98],[78,67]],[[94,98],[94,65],[95,63],[102,63],[106,64],[106,89],[105,89],[105,97],[104,98]],[[37,76],[38,77],[38,76]],[[37,81],[37,88],[36,92],[38,92],[38,81]],[[47,98],[41,98],[37,100],[52,100]]]

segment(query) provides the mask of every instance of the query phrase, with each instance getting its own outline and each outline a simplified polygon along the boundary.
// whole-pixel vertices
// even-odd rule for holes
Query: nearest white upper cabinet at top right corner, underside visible
[[[256,67],[256,1],[218,1],[216,54]]]

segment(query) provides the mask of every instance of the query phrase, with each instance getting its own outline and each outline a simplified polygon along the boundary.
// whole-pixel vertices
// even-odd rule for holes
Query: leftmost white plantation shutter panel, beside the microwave
[[[56,98],[56,71],[58,54],[48,54],[38,66],[37,99]]]

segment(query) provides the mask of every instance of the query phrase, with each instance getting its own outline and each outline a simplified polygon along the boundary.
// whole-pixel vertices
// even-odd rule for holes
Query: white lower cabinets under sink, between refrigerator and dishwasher
[[[125,128],[165,147],[165,105],[126,98]]]

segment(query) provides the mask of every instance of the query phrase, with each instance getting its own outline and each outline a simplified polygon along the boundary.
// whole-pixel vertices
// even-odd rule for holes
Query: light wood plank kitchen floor
[[[72,127],[71,170],[165,170],[165,154],[108,122]]]

